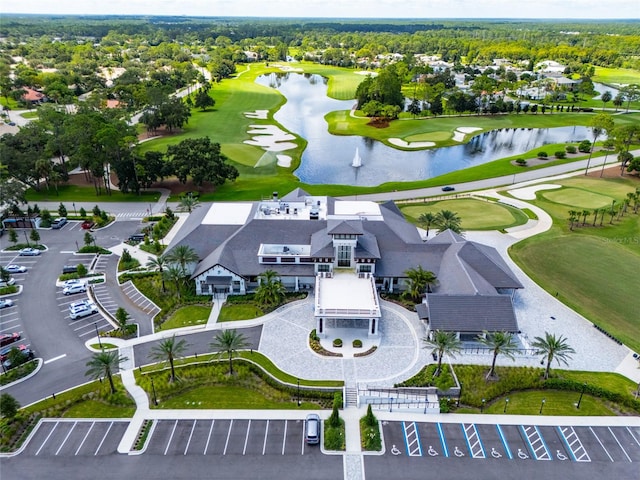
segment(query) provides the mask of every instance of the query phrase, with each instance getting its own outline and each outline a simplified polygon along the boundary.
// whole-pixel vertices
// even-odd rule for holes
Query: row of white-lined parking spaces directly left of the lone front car
[[[322,455],[304,442],[303,420],[159,420],[147,440],[153,455]]]

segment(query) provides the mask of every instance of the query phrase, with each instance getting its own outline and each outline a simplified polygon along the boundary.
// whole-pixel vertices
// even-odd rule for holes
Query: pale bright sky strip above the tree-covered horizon
[[[415,19],[640,18],[638,0],[4,0],[2,3],[3,13],[58,15]]]

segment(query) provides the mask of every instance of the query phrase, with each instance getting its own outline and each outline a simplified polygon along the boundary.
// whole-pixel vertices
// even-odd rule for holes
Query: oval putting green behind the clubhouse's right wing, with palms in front
[[[518,209],[499,203],[475,199],[442,200],[438,202],[399,205],[402,213],[413,223],[423,213],[451,210],[462,218],[465,230],[499,230],[527,223],[527,216]]]

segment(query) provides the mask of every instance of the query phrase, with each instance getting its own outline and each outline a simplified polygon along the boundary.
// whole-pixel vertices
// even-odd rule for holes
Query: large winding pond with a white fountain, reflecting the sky
[[[335,110],[351,110],[354,100],[329,98],[327,79],[320,75],[272,73],[258,77],[256,82],[277,89],[287,99],[274,118],[307,140],[295,174],[309,184],[375,186],[424,180],[544,144],[592,138],[590,129],[580,126],[511,128],[477,135],[463,145],[402,151],[366,137],[331,135],[324,116]],[[356,152],[361,159],[359,167],[352,166]]]

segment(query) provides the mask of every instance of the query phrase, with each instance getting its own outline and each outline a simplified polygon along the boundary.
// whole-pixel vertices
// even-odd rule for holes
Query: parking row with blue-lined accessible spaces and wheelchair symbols
[[[385,455],[489,461],[638,462],[640,428],[383,422]]]

